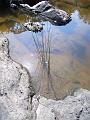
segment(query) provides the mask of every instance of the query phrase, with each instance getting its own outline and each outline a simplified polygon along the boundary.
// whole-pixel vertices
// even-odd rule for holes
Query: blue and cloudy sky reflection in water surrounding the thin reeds
[[[12,58],[29,69],[36,91],[41,84],[41,95],[53,98],[55,93],[54,97],[59,99],[80,87],[90,90],[90,25],[80,19],[78,10],[75,10],[72,21],[66,26],[54,26],[44,22],[43,27],[41,33],[25,31],[6,35],[10,41]],[[38,37],[39,47],[42,47],[41,36],[47,36],[49,30],[52,85],[47,88],[49,78],[46,73],[43,76],[32,35],[35,39]]]

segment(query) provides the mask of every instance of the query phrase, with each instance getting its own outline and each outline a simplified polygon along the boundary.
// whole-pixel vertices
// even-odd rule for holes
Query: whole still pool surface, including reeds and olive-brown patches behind
[[[72,21],[66,26],[43,22],[39,33],[26,31],[11,20],[7,24],[7,17],[0,17],[0,30],[4,27],[12,58],[28,68],[37,93],[54,99],[62,99],[81,87],[90,90],[90,10],[62,8],[69,8]],[[34,19],[20,16],[24,15],[19,14],[17,19],[10,14],[8,18],[21,23]],[[21,31],[14,34],[11,28]]]

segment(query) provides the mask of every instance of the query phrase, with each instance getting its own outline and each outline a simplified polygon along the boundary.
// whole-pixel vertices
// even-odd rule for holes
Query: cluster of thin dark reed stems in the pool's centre
[[[56,98],[56,93],[54,86],[52,84],[52,75],[51,75],[51,25],[47,23],[47,33],[44,34],[41,32],[41,40],[38,38],[37,34],[33,34],[33,40],[35,42],[37,55],[38,55],[38,69],[36,72],[39,72],[39,87],[38,94],[41,94],[48,98]],[[40,74],[41,72],[41,74]]]

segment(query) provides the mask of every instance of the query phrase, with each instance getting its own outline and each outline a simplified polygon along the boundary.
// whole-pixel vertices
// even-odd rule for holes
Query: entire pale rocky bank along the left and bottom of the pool
[[[28,71],[9,55],[0,37],[0,120],[90,120],[90,91],[80,89],[64,100],[34,95]]]

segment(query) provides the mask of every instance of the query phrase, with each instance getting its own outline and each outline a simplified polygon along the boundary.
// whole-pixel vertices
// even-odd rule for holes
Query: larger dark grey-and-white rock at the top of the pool
[[[71,21],[68,13],[55,8],[48,1],[41,1],[32,7],[28,4],[20,4],[18,8],[27,12],[33,12],[39,18],[48,20],[54,25],[65,25]]]

